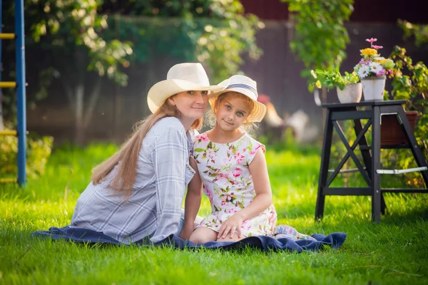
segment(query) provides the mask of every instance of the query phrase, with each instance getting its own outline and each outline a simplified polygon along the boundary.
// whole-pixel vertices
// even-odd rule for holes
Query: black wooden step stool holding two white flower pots
[[[407,193],[428,193],[428,189],[381,189],[380,187],[380,175],[381,174],[393,174],[403,173],[410,171],[422,172],[424,178],[425,187],[428,187],[428,166],[427,161],[422,155],[422,151],[417,145],[417,141],[414,138],[413,131],[407,120],[407,116],[404,113],[402,104],[404,100],[389,100],[389,101],[372,101],[372,102],[361,102],[361,103],[332,103],[324,104],[322,108],[327,109],[327,115],[325,120],[324,140],[322,142],[322,156],[321,156],[321,167],[320,167],[320,178],[318,182],[318,195],[317,205],[315,208],[315,220],[322,218],[324,213],[325,196],[327,195],[367,195],[372,196],[372,219],[374,222],[380,222],[380,214],[384,214],[385,204],[382,193],[384,192],[407,192]],[[358,110],[359,107],[371,107],[370,110]],[[365,108],[365,109],[366,109]],[[381,148],[403,148],[402,145],[382,147],[380,145],[380,125],[382,115],[397,114],[399,116],[399,123],[402,126],[402,130],[407,138],[409,144],[405,146],[412,150],[414,159],[417,162],[418,167],[411,170],[381,170],[380,169],[380,150]],[[362,127],[361,120],[368,119],[367,124]],[[340,128],[338,120],[354,120],[355,135],[357,139],[352,145],[349,144],[345,138],[342,129]],[[398,120],[398,118],[397,118]],[[400,122],[401,120],[401,122]],[[372,125],[372,145],[367,145],[365,133]],[[337,165],[336,169],[332,171],[332,175],[328,177],[329,173],[329,162],[330,162],[330,149],[332,145],[333,128],[337,131],[340,139],[347,148],[347,153],[342,161]],[[365,167],[358,160],[354,150],[359,146],[362,152],[362,158]],[[368,187],[330,187],[330,184],[335,179],[339,172],[350,172],[347,170],[341,170],[348,158],[351,157],[357,165],[357,172],[360,172],[367,182]]]

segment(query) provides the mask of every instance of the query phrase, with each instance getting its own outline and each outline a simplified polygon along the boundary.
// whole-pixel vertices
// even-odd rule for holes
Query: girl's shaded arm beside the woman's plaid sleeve
[[[180,238],[188,239],[195,229],[195,218],[198,215],[200,200],[202,199],[202,180],[198,172],[198,165],[192,157],[189,159],[190,166],[195,170],[195,175],[190,180],[188,192],[185,196],[184,226]]]

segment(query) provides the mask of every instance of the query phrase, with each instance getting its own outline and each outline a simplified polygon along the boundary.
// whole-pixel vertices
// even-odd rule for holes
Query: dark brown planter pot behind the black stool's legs
[[[416,125],[417,111],[406,111],[407,120],[414,131]],[[380,145],[408,145],[406,135],[398,123],[397,115],[382,115],[382,125],[380,125]]]

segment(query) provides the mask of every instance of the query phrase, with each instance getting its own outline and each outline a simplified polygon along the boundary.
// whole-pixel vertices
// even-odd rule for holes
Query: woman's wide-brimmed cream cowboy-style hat
[[[223,86],[210,86],[207,73],[200,63],[178,63],[171,67],[166,80],[159,81],[148,90],[147,103],[151,113],[155,113],[170,96],[183,91],[208,90],[217,92]]]

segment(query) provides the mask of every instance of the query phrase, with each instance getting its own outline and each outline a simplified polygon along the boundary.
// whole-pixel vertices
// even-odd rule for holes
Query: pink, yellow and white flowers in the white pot
[[[387,76],[392,73],[395,63],[389,58],[380,56],[378,50],[382,49],[383,46],[373,44],[377,41],[377,38],[367,38],[366,41],[370,43],[370,48],[360,50],[362,58],[354,67],[354,71],[358,74],[358,77]]]

